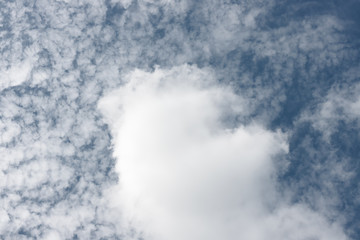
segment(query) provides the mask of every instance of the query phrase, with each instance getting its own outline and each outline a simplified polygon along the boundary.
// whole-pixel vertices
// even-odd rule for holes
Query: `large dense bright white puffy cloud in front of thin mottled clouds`
[[[336,222],[286,201],[276,182],[286,134],[229,121],[246,106],[209,69],[188,65],[135,70],[102,98],[119,224],[154,240],[346,239]]]

